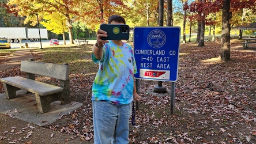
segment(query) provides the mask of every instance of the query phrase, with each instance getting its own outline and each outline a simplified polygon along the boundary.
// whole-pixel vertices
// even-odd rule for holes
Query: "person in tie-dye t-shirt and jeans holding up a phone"
[[[125,18],[113,15],[108,24],[126,24]],[[136,92],[137,73],[133,50],[121,40],[101,40],[107,32],[98,29],[92,60],[99,71],[92,86],[93,129],[95,143],[129,143],[129,119]]]

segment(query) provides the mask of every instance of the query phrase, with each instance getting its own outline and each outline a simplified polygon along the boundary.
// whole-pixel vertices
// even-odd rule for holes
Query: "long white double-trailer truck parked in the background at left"
[[[48,39],[47,29],[40,29],[41,39]],[[25,27],[1,27],[0,37],[6,37],[11,43],[18,43],[22,39],[39,41],[39,31],[37,28]]]

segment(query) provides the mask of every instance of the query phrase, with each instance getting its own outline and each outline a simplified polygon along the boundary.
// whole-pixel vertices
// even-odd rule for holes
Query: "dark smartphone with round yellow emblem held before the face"
[[[100,29],[107,32],[107,37],[101,37],[102,40],[128,40],[129,25],[101,24]]]

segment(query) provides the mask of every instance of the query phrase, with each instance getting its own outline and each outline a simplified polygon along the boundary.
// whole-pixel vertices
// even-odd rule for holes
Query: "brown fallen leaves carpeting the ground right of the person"
[[[180,51],[188,52],[195,49],[200,48],[182,47]],[[251,70],[251,67],[256,65],[255,52],[252,52],[254,57],[242,56],[246,59],[241,59],[241,55],[250,55],[251,52],[232,51],[232,61],[227,63],[209,62],[205,65],[195,60],[207,59],[207,56],[217,55],[216,52],[218,50],[213,47],[204,47],[201,51],[197,51],[196,56],[193,52],[189,52],[191,56],[180,56],[179,78],[175,90],[177,109],[175,115],[166,112],[170,111],[166,108],[170,107],[168,104],[170,96],[156,97],[154,94],[149,94],[147,89],[153,84],[148,84],[149,81],[141,81],[141,111],[136,118],[136,123],[141,126],[136,130],[136,134],[140,135],[135,139],[131,137],[131,141],[136,143],[141,140],[150,143],[154,140],[157,143],[165,143],[162,139],[156,139],[157,132],[160,131],[157,128],[161,128],[161,132],[172,130],[172,137],[167,137],[167,134],[165,136],[171,143],[256,142],[253,135],[256,133],[253,132],[256,128],[254,123],[256,73]],[[247,63],[249,61],[250,63]],[[170,88],[168,87],[170,84],[164,83],[164,85]],[[160,114],[162,118],[165,116],[164,121],[170,126],[165,124],[157,128],[153,127],[161,119],[161,116],[156,116]],[[252,127],[253,130],[246,130],[247,126]],[[144,130],[147,135],[143,134]],[[244,135],[240,137],[238,131]],[[232,137],[226,138],[227,133]],[[189,134],[190,137],[185,137],[185,134]],[[145,141],[146,136],[148,141]]]

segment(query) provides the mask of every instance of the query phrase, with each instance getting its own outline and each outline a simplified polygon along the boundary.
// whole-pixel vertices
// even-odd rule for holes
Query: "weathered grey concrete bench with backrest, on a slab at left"
[[[38,111],[45,113],[50,111],[50,104],[54,101],[61,101],[61,104],[71,102],[69,86],[69,66],[52,63],[33,62],[21,60],[21,71],[26,73],[24,77],[1,78],[6,98],[16,97],[16,91],[20,89],[35,93]],[[35,81],[35,75],[59,79],[59,86]]]

